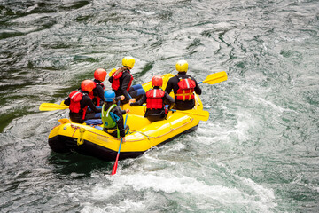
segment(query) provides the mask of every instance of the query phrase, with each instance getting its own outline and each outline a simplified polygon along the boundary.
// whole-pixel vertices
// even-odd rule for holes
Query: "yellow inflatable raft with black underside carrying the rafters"
[[[163,75],[165,87],[170,77]],[[151,83],[143,84],[144,90],[152,88]],[[170,94],[174,97],[174,93]],[[208,119],[208,112],[203,111],[203,105],[198,95],[195,95],[196,105],[187,111],[169,112],[167,119],[159,122],[149,122],[144,118],[145,106],[121,106],[129,108],[127,125],[130,130],[126,141],[121,145],[120,159],[135,158],[153,146],[160,146],[178,135],[196,130],[200,120]],[[124,116],[125,118],[125,116]],[[65,122],[67,121],[67,122]],[[113,138],[103,130],[92,126],[60,120],[60,125],[51,130],[49,145],[54,152],[69,153],[75,151],[104,161],[113,161],[119,151],[120,139]]]

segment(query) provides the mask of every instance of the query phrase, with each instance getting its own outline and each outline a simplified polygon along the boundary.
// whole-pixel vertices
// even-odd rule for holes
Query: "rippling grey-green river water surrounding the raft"
[[[319,2],[1,0],[0,212],[318,212]],[[134,83],[186,59],[210,113],[136,159],[54,154],[60,103],[136,59]],[[110,88],[105,81],[106,88]]]

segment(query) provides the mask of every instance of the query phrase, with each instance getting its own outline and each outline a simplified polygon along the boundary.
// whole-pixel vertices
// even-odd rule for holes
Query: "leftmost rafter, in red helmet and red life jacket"
[[[72,91],[65,99],[64,103],[69,106],[69,116],[72,122],[83,123],[89,119],[100,118],[101,109],[98,109],[89,98],[89,92],[93,91],[95,86],[92,80],[84,80],[81,83],[81,89]]]

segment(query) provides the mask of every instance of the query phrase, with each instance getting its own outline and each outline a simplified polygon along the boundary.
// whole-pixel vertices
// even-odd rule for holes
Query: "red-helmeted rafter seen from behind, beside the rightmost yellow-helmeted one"
[[[175,103],[175,100],[169,96],[166,91],[160,89],[162,85],[163,79],[160,76],[153,76],[153,88],[147,91],[142,99],[139,99],[136,103],[130,103],[130,106],[141,106],[146,103],[144,117],[147,117],[150,122],[157,122],[165,119],[168,113],[168,109],[165,107],[165,104],[167,104],[170,109]]]

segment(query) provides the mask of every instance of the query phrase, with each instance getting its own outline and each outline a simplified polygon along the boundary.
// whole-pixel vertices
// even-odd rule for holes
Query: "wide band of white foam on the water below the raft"
[[[166,173],[167,174],[167,173]],[[103,201],[110,201],[118,196],[122,196],[123,192],[134,191],[135,193],[150,192],[152,197],[159,196],[159,194],[175,194],[175,199],[180,199],[181,196],[186,201],[194,201],[198,205],[203,203],[210,206],[211,203],[220,203],[223,206],[229,205],[249,205],[253,209],[261,209],[261,212],[267,212],[269,208],[275,207],[273,203],[275,199],[272,190],[257,185],[251,179],[238,177],[237,179],[243,182],[244,185],[253,189],[254,193],[245,193],[245,190],[237,189],[235,187],[228,187],[224,185],[207,185],[203,181],[193,177],[174,177],[174,176],[160,176],[159,173],[149,174],[131,174],[108,177],[112,181],[111,185],[97,185],[92,189],[91,199],[98,203]],[[133,192],[133,193],[134,193]],[[132,193],[132,192],[130,192]],[[146,199],[146,198],[145,198]],[[140,201],[133,201],[125,199],[119,205],[113,206],[113,209],[118,209],[125,212],[125,209],[145,209],[147,205],[151,205]],[[196,202],[198,200],[198,202]],[[200,201],[200,202],[199,202]],[[152,205],[160,205],[157,199],[153,199]],[[199,204],[201,203],[201,204]],[[123,205],[124,204],[124,205]],[[91,204],[85,205],[83,212],[91,212],[96,210]],[[109,207],[105,207],[109,208]],[[120,209],[119,209],[120,208]],[[197,208],[200,208],[198,206]],[[100,208],[97,208],[97,211]],[[116,212],[116,211],[113,211]]]

